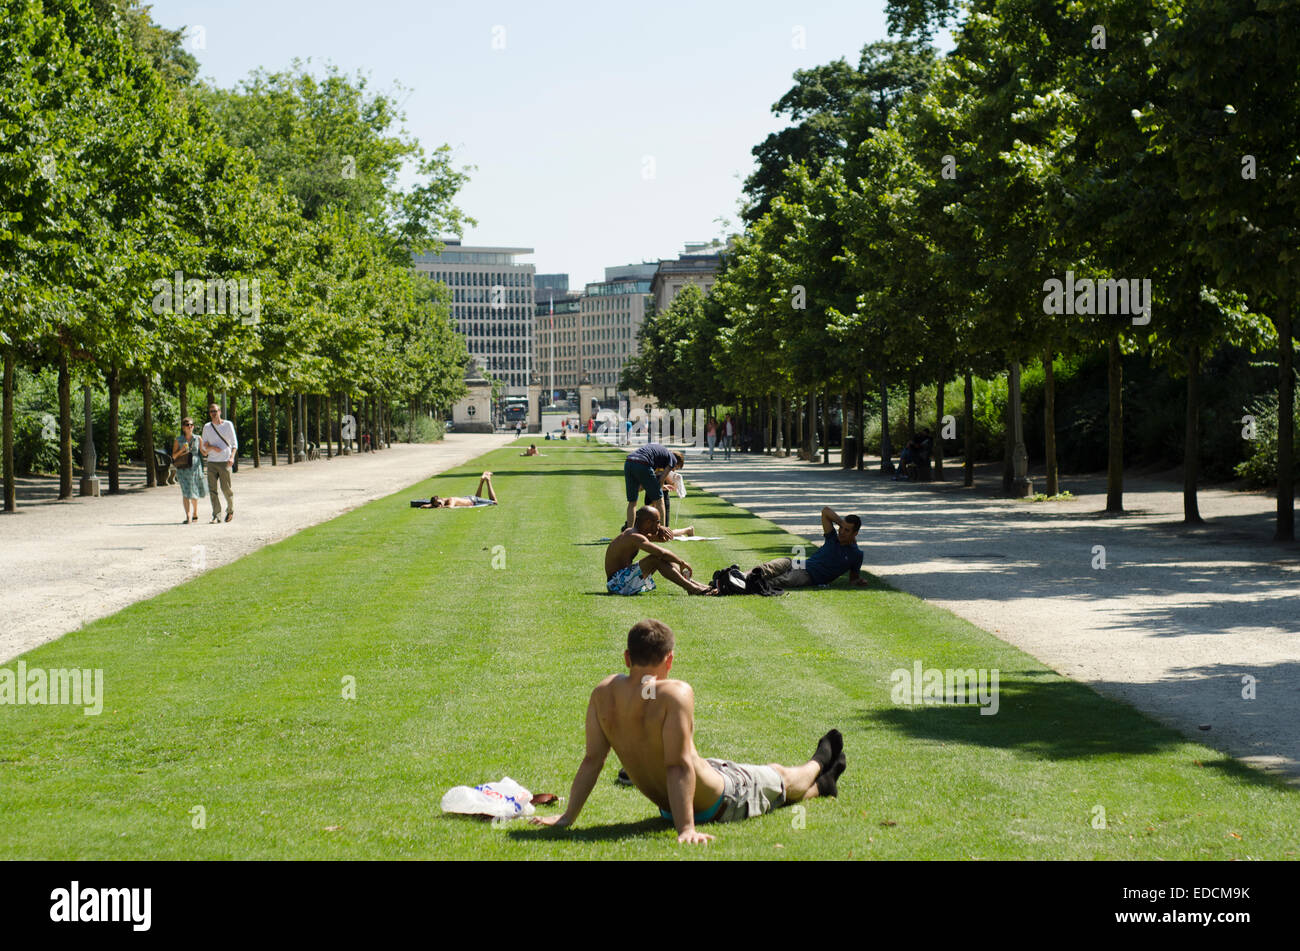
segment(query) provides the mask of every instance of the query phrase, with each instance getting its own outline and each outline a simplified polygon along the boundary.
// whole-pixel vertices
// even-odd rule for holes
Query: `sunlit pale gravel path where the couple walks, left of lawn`
[[[220,525],[208,524],[205,498],[199,522],[181,525],[179,487],[144,488],[139,476],[135,487],[124,481],[121,495],[69,501],[40,501],[48,492],[32,485],[25,495],[36,501],[20,500],[17,513],[0,516],[0,664],[514,438],[448,434],[441,443],[292,466],[240,460],[235,518]],[[107,477],[101,483],[107,488]],[[456,491],[473,490],[467,478]]]

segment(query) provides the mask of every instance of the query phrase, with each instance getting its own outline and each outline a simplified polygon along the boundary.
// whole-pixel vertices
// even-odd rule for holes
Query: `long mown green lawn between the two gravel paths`
[[[885,585],[604,595],[597,539],[623,518],[621,453],[542,447],[541,459],[488,453],[26,655],[103,668],[107,699],[98,717],[0,705],[0,857],[1296,854],[1296,791]],[[407,504],[472,492],[484,468],[500,507]],[[679,547],[697,577],[798,540],[715,496],[693,492],[675,524],[679,512],[725,535]],[[809,803],[802,822],[783,809],[707,828],[707,851],[679,847],[646,799],[614,783],[611,755],[572,830],[441,815],[450,786],[503,774],[567,796],[586,696],[621,669],[627,630],[646,616],[677,633],[673,674],[696,687],[702,755],[802,763],[838,726],[840,798]],[[890,672],[916,660],[997,668],[1000,712],[893,704]]]

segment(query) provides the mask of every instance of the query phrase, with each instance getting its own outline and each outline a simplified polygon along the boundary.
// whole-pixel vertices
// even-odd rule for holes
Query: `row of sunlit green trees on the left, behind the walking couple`
[[[255,420],[268,395],[361,398],[378,429],[387,407],[463,395],[446,291],[410,265],[471,221],[454,204],[465,173],[394,131],[391,94],[302,62],[213,88],[136,0],[0,13],[6,511],[18,365],[57,366],[60,498],[74,386],[108,390],[110,491],[124,388],[143,396],[146,447],[159,387],[182,413],[191,386],[247,395]]]

